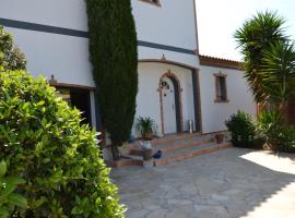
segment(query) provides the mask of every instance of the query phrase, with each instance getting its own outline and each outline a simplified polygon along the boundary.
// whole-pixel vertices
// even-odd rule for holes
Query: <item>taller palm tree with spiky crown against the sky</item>
[[[263,50],[269,49],[275,43],[285,43],[285,20],[276,12],[259,12],[252,19],[246,21],[236,31],[234,37],[244,56],[245,77],[253,92],[257,102],[266,102],[269,99],[269,89],[266,89],[263,74],[259,73],[262,66]]]

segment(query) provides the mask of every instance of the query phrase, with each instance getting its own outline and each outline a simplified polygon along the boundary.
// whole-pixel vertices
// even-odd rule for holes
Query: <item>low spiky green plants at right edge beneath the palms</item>
[[[279,112],[261,112],[258,121],[259,131],[272,150],[295,153],[295,128],[284,125]]]

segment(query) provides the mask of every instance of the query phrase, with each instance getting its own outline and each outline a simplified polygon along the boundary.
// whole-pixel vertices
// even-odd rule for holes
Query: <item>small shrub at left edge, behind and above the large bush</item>
[[[8,70],[24,70],[25,56],[13,44],[13,37],[0,26],[0,65]]]

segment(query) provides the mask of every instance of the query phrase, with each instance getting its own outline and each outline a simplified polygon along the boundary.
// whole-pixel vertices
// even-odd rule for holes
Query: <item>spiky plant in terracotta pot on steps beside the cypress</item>
[[[150,118],[139,117],[135,122],[135,130],[140,132],[143,141],[152,141],[154,135],[155,121]]]

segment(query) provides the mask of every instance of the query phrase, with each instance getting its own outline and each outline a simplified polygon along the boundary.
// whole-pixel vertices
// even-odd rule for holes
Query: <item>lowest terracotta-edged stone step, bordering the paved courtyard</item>
[[[214,153],[216,150],[225,149],[228,147],[232,147],[232,144],[228,142],[225,142],[223,144],[210,143],[210,144],[202,144],[194,147],[189,147],[186,149],[178,149],[169,154],[164,153],[161,159],[154,159],[154,167],[168,165],[172,162],[185,160],[185,159],[201,156],[201,155],[206,155],[206,154]]]

